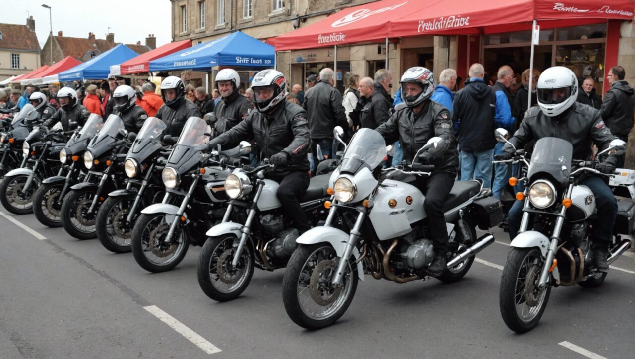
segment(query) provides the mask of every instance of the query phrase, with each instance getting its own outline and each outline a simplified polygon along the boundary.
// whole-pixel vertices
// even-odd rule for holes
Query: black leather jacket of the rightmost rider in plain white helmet
[[[579,102],[556,117],[545,116],[539,107],[531,107],[509,142],[521,149],[529,141],[543,137],[558,137],[570,142],[573,145],[573,159],[578,160],[591,158],[593,144],[601,151],[615,139],[599,111]],[[503,150],[513,151],[509,144],[505,144]]]

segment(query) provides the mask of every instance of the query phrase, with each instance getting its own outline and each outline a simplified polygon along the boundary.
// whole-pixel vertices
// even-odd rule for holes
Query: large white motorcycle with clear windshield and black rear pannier
[[[341,134],[338,128],[340,141]],[[414,158],[441,141],[433,137]],[[397,283],[434,275],[427,271],[434,250],[425,196],[409,183],[415,175],[430,175],[434,166],[413,163],[384,170],[380,163],[386,154],[378,132],[359,130],[330,177],[333,200],[325,203],[326,223],[297,240],[284,273],[283,301],[286,313],[300,327],[321,329],[335,323],[351,304],[364,273]],[[476,238],[476,226],[496,226],[502,208],[480,182],[470,180],[455,182],[443,210],[450,237],[448,264],[434,278],[451,283],[463,278],[474,255],[493,243],[489,233]],[[347,231],[338,229],[338,223]]]

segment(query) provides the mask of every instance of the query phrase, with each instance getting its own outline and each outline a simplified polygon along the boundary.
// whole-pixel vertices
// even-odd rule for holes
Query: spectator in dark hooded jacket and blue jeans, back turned
[[[496,98],[485,83],[485,69],[472,64],[470,81],[458,91],[453,102],[453,121],[458,123],[461,180],[478,179],[491,186],[491,161],[494,157],[494,116]]]

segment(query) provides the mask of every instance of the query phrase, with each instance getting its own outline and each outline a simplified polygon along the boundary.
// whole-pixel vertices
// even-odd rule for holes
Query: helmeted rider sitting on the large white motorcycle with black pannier
[[[411,67],[401,76],[401,98],[406,107],[397,110],[377,128],[386,143],[396,140],[403,146],[403,158],[408,163],[418,149],[432,137],[443,139],[438,146],[419,156],[422,162],[434,165],[431,175],[417,176],[415,186],[424,194],[424,208],[434,244],[435,256],[427,271],[440,274],[448,264],[448,229],[443,213],[443,201],[448,197],[457,176],[458,151],[453,135],[450,111],[430,100],[434,92],[432,72],[425,67]]]

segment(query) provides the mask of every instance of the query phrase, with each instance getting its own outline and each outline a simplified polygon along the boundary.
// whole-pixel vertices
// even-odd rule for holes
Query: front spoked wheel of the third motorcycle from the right
[[[253,274],[253,248],[246,245],[236,268],[232,266],[236,237],[225,236],[208,239],[197,264],[199,285],[203,292],[218,302],[231,301],[243,293]]]

